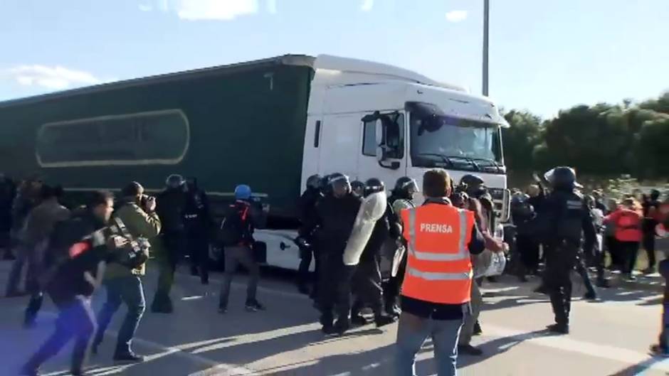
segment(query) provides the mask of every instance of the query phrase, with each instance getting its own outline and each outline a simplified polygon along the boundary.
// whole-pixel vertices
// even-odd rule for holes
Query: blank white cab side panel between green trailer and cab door
[[[359,124],[362,114],[325,115],[321,125],[318,173],[343,173],[357,178]]]

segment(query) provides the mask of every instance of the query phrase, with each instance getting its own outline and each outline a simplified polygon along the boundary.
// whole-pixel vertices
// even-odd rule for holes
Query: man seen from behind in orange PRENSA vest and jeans
[[[423,176],[423,206],[402,210],[408,256],[401,289],[396,375],[413,376],[416,353],[430,336],[438,376],[453,376],[458,337],[470,313],[471,254],[485,241],[474,213],[451,205],[451,178],[441,169]]]

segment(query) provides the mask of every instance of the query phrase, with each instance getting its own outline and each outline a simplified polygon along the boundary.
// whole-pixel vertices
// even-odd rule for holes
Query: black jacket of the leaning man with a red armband
[[[54,228],[46,255],[47,266],[54,269],[46,286],[53,301],[68,301],[77,295],[93,295],[95,286],[84,278],[84,273],[95,276],[98,263],[107,261],[111,252],[105,245],[101,245],[70,259],[68,249],[102,227],[105,227],[102,221],[92,213],[83,211],[74,213],[70,220],[60,222]]]

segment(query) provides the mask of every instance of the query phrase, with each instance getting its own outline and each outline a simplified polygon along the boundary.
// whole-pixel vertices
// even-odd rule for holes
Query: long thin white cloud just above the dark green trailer
[[[63,90],[68,87],[96,85],[105,80],[81,70],[72,70],[60,66],[19,65],[6,71],[9,77],[23,86],[41,86],[51,90]]]

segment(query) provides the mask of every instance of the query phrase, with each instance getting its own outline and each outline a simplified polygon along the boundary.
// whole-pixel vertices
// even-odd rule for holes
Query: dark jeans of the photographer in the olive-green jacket
[[[105,281],[105,286],[107,287],[107,301],[98,315],[99,329],[95,334],[93,345],[98,346],[102,343],[107,326],[112,321],[112,316],[121,306],[121,303],[125,303],[128,311],[118,332],[115,353],[131,353],[132,338],[135,337],[139,320],[142,319],[146,306],[142,280],[139,279],[139,276],[122,276]]]

